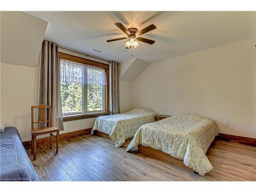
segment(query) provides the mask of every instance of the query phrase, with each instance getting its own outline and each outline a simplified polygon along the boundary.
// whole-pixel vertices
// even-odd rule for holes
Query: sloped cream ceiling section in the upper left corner
[[[1,62],[36,66],[47,23],[19,11],[1,12]]]

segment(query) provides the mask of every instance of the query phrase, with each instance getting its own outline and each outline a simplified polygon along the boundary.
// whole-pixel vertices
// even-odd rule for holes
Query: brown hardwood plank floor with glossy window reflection
[[[256,147],[214,141],[207,157],[214,168],[205,177],[145,156],[127,144],[84,135],[59,142],[55,155],[48,146],[37,148],[37,159],[27,150],[41,181],[256,181]]]

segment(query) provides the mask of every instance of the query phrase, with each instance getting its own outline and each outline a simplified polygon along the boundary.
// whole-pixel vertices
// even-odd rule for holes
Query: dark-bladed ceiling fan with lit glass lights
[[[126,49],[130,49],[132,48],[132,46],[134,46],[135,48],[138,47],[140,44],[138,43],[138,41],[141,42],[145,42],[146,44],[154,44],[154,40],[151,39],[146,39],[143,37],[138,37],[139,35],[142,35],[144,33],[147,33],[149,31],[152,31],[154,29],[156,29],[155,25],[150,25],[145,27],[144,29],[141,29],[140,31],[138,31],[137,28],[129,28],[126,29],[123,24],[121,23],[115,23],[115,25],[121,29],[126,35],[127,37],[122,37],[122,38],[117,38],[117,39],[110,39],[110,40],[106,40],[106,42],[112,42],[112,41],[116,41],[116,40],[123,40],[123,39],[127,39],[129,38],[129,40],[125,43]]]

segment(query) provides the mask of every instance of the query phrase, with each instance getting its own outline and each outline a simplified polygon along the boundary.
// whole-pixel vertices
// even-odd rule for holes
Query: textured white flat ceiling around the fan
[[[45,38],[98,57],[125,61],[133,56],[148,62],[254,38],[256,12],[26,12],[46,20]],[[142,37],[156,40],[125,49],[125,37],[114,23],[139,30],[154,24],[157,29]],[[93,51],[101,50],[102,53]]]

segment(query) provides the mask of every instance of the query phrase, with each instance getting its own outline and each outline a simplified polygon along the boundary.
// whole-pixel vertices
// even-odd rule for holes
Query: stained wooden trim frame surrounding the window
[[[104,110],[103,112],[88,112],[88,113],[83,113],[83,114],[71,114],[71,115],[66,115],[63,116],[63,121],[73,121],[73,120],[78,120],[78,119],[87,119],[87,118],[93,118],[93,117],[98,117],[101,115],[109,115],[110,114],[110,82],[109,82],[109,75],[110,75],[110,71],[109,68],[110,66],[108,64],[102,63],[102,62],[98,62],[98,61],[94,61],[94,60],[89,60],[86,58],[82,58],[82,57],[78,57],[78,56],[74,56],[74,55],[70,55],[67,53],[62,53],[62,52],[58,52],[59,54],[59,62],[60,59],[65,59],[65,60],[70,60],[73,62],[78,62],[81,63],[82,65],[86,65],[86,66],[92,66],[92,67],[97,67],[97,68],[101,68],[105,70],[105,74],[106,74],[106,86],[105,86],[105,93],[104,93]]]

